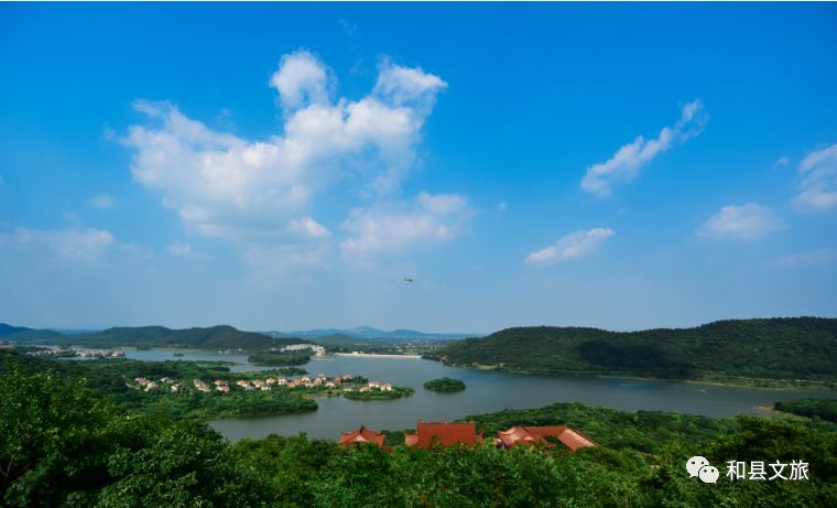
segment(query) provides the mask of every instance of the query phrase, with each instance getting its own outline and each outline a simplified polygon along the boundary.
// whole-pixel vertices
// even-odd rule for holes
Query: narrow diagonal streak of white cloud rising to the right
[[[671,128],[664,127],[656,139],[645,141],[640,136],[632,143],[620,148],[612,159],[587,167],[587,174],[581,180],[581,188],[599,197],[609,196],[615,183],[632,181],[640,169],[657,153],[703,132],[703,127],[707,121],[709,121],[709,114],[704,110],[700,99],[695,99],[683,106],[681,119]]]

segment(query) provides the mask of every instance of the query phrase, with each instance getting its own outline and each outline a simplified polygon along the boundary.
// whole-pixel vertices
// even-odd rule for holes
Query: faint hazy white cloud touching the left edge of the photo
[[[15,228],[13,234],[0,233],[0,246],[7,248],[88,261],[96,260],[115,245],[113,235],[106,230],[93,228],[86,231]]]

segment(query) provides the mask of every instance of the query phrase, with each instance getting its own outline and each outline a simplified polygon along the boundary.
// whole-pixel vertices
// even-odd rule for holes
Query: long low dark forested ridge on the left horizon
[[[194,349],[269,349],[291,344],[314,344],[297,337],[270,337],[260,333],[241,332],[232,326],[170,329],[164,326],[117,327],[101,332],[65,335],[48,329],[31,329],[0,323],[0,339],[24,343],[79,345],[95,349],[115,347],[180,347]]]

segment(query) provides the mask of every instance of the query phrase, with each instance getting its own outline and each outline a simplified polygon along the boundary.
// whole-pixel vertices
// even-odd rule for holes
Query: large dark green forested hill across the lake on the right
[[[673,379],[708,374],[837,380],[837,320],[719,321],[695,328],[607,332],[552,326],[508,328],[436,349],[425,358],[501,370],[634,372]]]

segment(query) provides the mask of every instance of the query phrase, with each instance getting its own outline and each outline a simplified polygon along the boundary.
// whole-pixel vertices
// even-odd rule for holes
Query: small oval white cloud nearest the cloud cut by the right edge
[[[744,206],[725,206],[695,234],[703,238],[753,239],[778,229],[785,229],[785,225],[772,209],[748,203]]]

